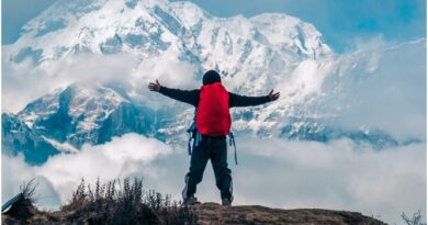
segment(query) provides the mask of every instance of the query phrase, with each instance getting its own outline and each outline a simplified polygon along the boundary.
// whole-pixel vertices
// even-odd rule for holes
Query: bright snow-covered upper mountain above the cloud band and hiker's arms
[[[63,25],[53,26],[55,21]],[[52,64],[72,55],[128,53],[140,58],[142,70],[149,74],[154,65],[147,68],[147,61],[155,58],[156,65],[156,57],[170,55],[173,58],[164,67],[187,63],[195,68],[195,75],[180,75],[181,79],[200,79],[203,71],[214,68],[222,72],[229,90],[255,95],[281,88],[279,83],[290,75],[300,85],[306,79],[294,72],[296,68],[304,70],[309,65],[319,69],[328,63],[318,65],[317,60],[333,57],[322,34],[297,18],[274,13],[250,19],[216,18],[190,2],[58,1],[23,30],[16,43],[4,48],[3,56],[11,67],[32,60],[49,74]],[[155,76],[161,77],[162,72]],[[315,72],[307,76],[318,79],[319,86],[323,79],[318,77],[323,78]],[[140,89],[135,83],[131,87],[129,95]],[[293,94],[295,87],[300,89],[285,87],[283,91]],[[313,91],[302,91],[300,98],[288,98],[284,103],[293,108],[299,103],[295,101]]]

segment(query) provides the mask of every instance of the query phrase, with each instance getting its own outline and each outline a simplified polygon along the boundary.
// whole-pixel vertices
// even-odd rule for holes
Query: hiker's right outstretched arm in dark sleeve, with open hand
[[[273,93],[273,90],[271,90],[269,94],[264,97],[245,97],[229,92],[229,108],[264,104],[270,101],[275,101],[279,98],[280,92]]]

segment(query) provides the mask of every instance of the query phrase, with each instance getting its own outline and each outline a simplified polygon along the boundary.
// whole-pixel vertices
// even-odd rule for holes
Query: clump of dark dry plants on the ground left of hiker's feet
[[[143,179],[97,180],[94,190],[82,179],[63,211],[68,221],[90,224],[196,224],[192,210],[154,190],[143,189]]]

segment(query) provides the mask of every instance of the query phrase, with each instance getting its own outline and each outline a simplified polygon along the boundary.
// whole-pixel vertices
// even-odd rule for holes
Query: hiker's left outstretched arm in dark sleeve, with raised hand
[[[160,86],[158,80],[156,80],[156,83],[155,82],[148,83],[148,89],[150,91],[159,92],[159,93],[167,95],[171,99],[174,99],[174,100],[178,100],[178,101],[181,101],[184,103],[189,103],[193,106],[198,105],[200,90],[188,91],[188,90],[180,90],[180,89],[171,89],[171,88]]]

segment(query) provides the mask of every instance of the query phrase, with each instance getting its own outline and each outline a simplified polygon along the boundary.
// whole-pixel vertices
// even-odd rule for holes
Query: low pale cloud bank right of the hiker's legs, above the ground
[[[402,212],[426,212],[425,143],[381,151],[349,139],[239,143],[249,153],[235,176],[244,203],[349,210],[388,223],[399,223]]]

